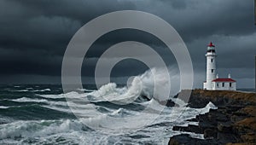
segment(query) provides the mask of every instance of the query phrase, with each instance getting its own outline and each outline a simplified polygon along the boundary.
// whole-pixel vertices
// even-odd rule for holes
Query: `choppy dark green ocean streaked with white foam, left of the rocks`
[[[112,87],[109,89],[108,87]],[[122,85],[108,84],[100,90],[93,85],[84,85],[84,94],[70,92],[68,97],[90,98],[90,104],[77,108],[85,115],[83,119],[77,118],[67,104],[66,95],[61,85],[57,84],[9,84],[0,86],[0,144],[167,144],[169,138],[181,134],[172,131],[173,125],[189,125],[186,119],[195,118],[197,114],[207,113],[210,108],[216,108],[211,102],[204,108],[164,107],[159,116],[137,130],[127,130],[135,122],[126,122],[128,126],[123,130],[108,132],[96,130],[90,125],[97,119],[104,121],[102,125],[120,125],[122,122],[106,120],[106,116],[124,119],[136,113],[141,113],[152,100],[138,97],[134,102],[119,105],[102,100],[102,96],[113,95],[113,88],[122,91]],[[102,93],[104,91],[104,93]],[[106,94],[107,93],[107,94]],[[71,96],[72,95],[72,96]],[[114,96],[119,96],[114,92]],[[69,104],[70,105],[70,104]],[[92,112],[88,105],[96,108],[99,113]],[[156,104],[161,106],[161,104]],[[154,108],[152,108],[154,109]],[[183,110],[182,115],[175,116]],[[88,116],[86,116],[88,113]],[[157,112],[159,113],[159,112]],[[177,119],[173,119],[177,118]],[[142,118],[140,122],[147,122],[149,117]],[[96,122],[98,125],[99,122]],[[99,127],[99,126],[98,126]],[[100,126],[101,127],[101,126]],[[102,126],[104,128],[104,126]],[[190,133],[190,136],[203,138],[201,134]]]

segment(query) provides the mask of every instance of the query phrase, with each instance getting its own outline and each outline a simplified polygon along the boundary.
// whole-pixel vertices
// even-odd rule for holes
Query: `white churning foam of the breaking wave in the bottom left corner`
[[[0,125],[2,144],[26,144],[32,138],[37,139],[37,144],[106,144],[110,139],[108,137],[87,129],[80,120],[73,119],[16,121]],[[117,137],[113,141],[119,140]]]

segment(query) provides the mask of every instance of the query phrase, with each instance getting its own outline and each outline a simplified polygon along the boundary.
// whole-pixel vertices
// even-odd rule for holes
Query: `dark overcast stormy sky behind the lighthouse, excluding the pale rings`
[[[61,62],[74,33],[88,21],[117,10],[140,10],[169,22],[189,49],[195,87],[204,81],[207,44],[216,45],[219,77],[231,73],[238,88],[254,87],[256,26],[253,0],[1,0],[0,83],[61,83]],[[97,58],[113,44],[148,44],[170,66],[176,61],[159,39],[146,32],[122,30],[99,38],[86,54],[82,73],[93,78]],[[143,63],[121,61],[113,78],[143,73]]]

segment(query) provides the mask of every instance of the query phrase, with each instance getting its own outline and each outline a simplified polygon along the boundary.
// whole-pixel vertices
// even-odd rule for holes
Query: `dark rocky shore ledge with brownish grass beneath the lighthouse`
[[[182,90],[180,93],[185,93]],[[172,136],[169,145],[193,144],[256,144],[256,94],[231,90],[192,90],[188,107],[205,107],[212,102],[218,109],[200,114],[188,121],[198,125],[174,126],[182,131]],[[205,139],[189,136],[189,132],[203,134]]]

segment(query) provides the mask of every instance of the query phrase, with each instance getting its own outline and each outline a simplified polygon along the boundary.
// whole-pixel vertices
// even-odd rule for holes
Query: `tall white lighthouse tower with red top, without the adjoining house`
[[[212,90],[212,80],[216,78],[216,53],[215,46],[208,44],[207,46],[207,81],[204,83],[204,89]]]

